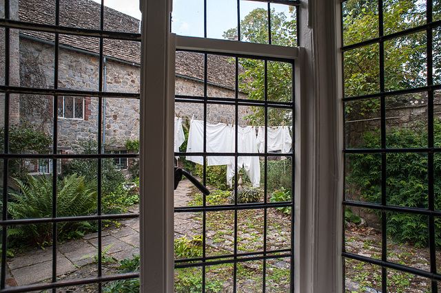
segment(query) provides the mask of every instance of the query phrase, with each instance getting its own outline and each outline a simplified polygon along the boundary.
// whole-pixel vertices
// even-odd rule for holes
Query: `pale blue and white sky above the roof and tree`
[[[93,0],[101,3],[101,0]],[[203,0],[173,0],[172,32],[183,36],[204,36]],[[104,5],[141,19],[139,0],[104,0]],[[267,8],[266,3],[240,1],[240,19],[255,8]],[[288,7],[271,4],[277,12],[289,15]],[[223,39],[223,32],[237,25],[237,0],[207,0],[207,37]]]

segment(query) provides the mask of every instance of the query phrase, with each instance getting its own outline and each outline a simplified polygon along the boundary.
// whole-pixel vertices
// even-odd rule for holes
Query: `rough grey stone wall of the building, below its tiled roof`
[[[105,91],[119,93],[139,93],[139,65],[130,65],[108,59],[105,62]],[[27,87],[54,87],[54,47],[28,37],[20,43],[20,75]],[[99,89],[99,58],[93,54],[68,50],[59,51],[59,88],[84,91]],[[176,94],[203,95],[203,83],[191,78],[176,77]],[[226,87],[207,86],[208,96],[234,98],[234,91]],[[245,94],[240,94],[246,98]],[[41,124],[45,131],[52,133],[52,96],[21,95],[22,117]],[[85,119],[59,118],[58,145],[69,149],[79,139],[98,137],[98,99],[85,98],[88,109]],[[131,98],[103,99],[104,139],[107,149],[124,149],[126,140],[139,139],[139,100]],[[87,111],[88,110],[88,111]],[[197,103],[176,103],[175,112],[181,117],[203,119],[203,107]],[[249,107],[239,107],[239,125],[247,123],[243,118],[249,115]],[[229,122],[235,119],[234,105],[208,105],[208,122]],[[154,127],[154,126],[152,126]]]

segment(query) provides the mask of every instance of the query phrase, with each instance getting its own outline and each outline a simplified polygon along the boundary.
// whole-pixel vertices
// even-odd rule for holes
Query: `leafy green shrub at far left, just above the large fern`
[[[0,152],[4,150],[5,129],[0,128]],[[52,136],[45,133],[33,124],[23,120],[19,125],[12,124],[9,127],[9,153],[48,153],[52,144]],[[19,180],[26,180],[28,169],[26,160],[10,160],[10,172],[12,177]]]

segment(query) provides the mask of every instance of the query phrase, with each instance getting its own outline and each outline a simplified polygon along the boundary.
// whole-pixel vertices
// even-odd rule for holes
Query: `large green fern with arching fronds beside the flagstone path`
[[[52,177],[28,176],[28,183],[16,180],[21,193],[10,193],[8,213],[12,219],[41,219],[52,217]],[[97,193],[94,186],[76,174],[57,182],[57,216],[74,217],[91,215],[96,212]],[[66,237],[71,231],[91,228],[88,222],[57,224],[59,237]],[[52,224],[27,224],[8,229],[15,239],[28,241],[31,245],[42,246],[52,241]]]

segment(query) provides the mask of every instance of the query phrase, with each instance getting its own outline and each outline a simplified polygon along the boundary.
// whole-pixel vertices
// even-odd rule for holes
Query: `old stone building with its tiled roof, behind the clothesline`
[[[30,23],[54,24],[55,10],[51,0],[17,0],[17,17]],[[60,1],[60,25],[98,29],[101,6],[90,0]],[[105,8],[104,27],[107,30],[139,33],[140,22],[116,10]],[[11,40],[12,54],[17,54],[16,85],[43,89],[99,90],[99,39],[59,35],[58,72],[55,67],[55,36],[43,32],[20,30]],[[14,47],[15,46],[15,47]],[[141,43],[105,39],[103,41],[104,92],[127,94],[127,98],[103,98],[103,142],[109,151],[124,151],[126,140],[139,138],[139,94]],[[4,61],[3,61],[4,64]],[[13,67],[11,65],[11,67]],[[227,56],[209,55],[207,58],[207,95],[229,98],[235,95],[235,65]],[[240,68],[240,73],[244,69]],[[54,76],[58,74],[57,85]],[[176,96],[203,96],[203,54],[176,52]],[[239,93],[246,98],[246,94]],[[45,131],[53,131],[53,97],[21,94],[11,107],[11,116],[28,119]],[[238,110],[239,125],[250,112],[247,107]],[[97,98],[58,97],[58,144],[61,151],[72,151],[79,139],[98,136],[99,102]],[[203,107],[194,103],[176,103],[176,115],[203,118]],[[209,105],[208,122],[233,122],[234,106]],[[16,123],[19,120],[15,121]]]

